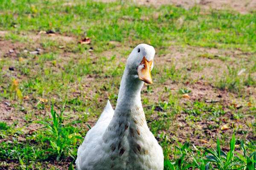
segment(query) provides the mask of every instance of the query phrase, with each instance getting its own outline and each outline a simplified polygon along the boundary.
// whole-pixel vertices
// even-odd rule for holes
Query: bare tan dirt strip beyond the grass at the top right
[[[105,3],[115,0],[97,0]],[[133,0],[140,5],[175,5],[186,9],[200,6],[203,9],[231,9],[246,14],[256,8],[256,0]]]

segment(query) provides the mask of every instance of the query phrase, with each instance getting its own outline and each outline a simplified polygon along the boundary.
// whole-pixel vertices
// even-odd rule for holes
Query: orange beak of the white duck
[[[143,57],[140,66],[143,66],[142,68],[138,68],[138,75],[141,81],[144,81],[147,84],[153,84],[152,78],[151,78],[151,64],[153,62],[153,59],[151,61],[147,61],[145,56]]]

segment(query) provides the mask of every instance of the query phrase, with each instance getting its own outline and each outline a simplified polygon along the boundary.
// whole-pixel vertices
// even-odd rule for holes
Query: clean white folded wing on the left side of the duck
[[[102,135],[108,127],[111,119],[113,118],[114,110],[108,100],[104,111],[99,117],[99,120],[86,134],[83,143],[79,146],[77,152],[76,166],[78,170],[83,168],[87,164],[87,157],[94,156],[96,153],[91,153],[93,149],[99,146],[102,140]]]

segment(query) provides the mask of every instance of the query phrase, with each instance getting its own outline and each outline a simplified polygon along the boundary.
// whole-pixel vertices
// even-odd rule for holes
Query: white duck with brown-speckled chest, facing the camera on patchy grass
[[[131,52],[115,111],[110,102],[78,149],[78,170],[163,170],[163,150],[150,132],[141,104],[144,82],[152,84],[155,50],[140,44]],[[143,82],[144,81],[144,82]]]

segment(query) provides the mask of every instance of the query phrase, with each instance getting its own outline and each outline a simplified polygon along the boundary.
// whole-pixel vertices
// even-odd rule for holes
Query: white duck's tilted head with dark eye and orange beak
[[[147,44],[136,46],[129,55],[126,63],[130,74],[147,84],[152,84],[151,70],[153,69],[154,54],[155,50],[153,46]]]

